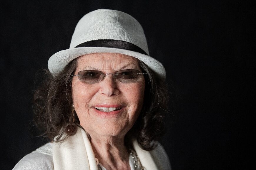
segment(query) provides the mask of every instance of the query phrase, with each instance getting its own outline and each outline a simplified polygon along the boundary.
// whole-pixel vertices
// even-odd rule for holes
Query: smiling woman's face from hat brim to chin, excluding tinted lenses
[[[107,74],[126,69],[141,71],[134,57],[93,53],[78,58],[75,75],[82,70],[99,70]],[[144,89],[144,76],[134,83],[121,83],[109,74],[94,84],[82,83],[74,76],[72,97],[81,126],[91,136],[124,136],[142,109]]]

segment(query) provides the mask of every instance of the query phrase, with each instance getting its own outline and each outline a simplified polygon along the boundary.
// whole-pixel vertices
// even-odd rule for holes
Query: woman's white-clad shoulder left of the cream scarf
[[[52,143],[47,143],[24,156],[13,170],[53,170]]]

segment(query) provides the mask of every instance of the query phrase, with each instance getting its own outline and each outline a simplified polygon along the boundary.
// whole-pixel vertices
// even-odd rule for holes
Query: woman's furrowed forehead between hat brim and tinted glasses
[[[93,53],[78,58],[77,68],[80,70],[114,70],[138,69],[138,59],[119,53]]]

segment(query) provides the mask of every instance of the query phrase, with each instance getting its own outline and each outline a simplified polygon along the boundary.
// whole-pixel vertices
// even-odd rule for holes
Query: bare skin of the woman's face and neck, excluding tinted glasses
[[[116,53],[93,53],[78,58],[75,75],[82,70],[114,73],[118,70],[141,70],[137,59]],[[86,84],[77,76],[72,80],[72,97],[81,126],[91,136],[95,156],[107,169],[129,169],[129,153],[124,136],[132,128],[142,109],[145,80],[121,83],[107,75],[99,83]],[[112,114],[101,113],[95,107],[122,107]],[[110,162],[107,162],[110,161]]]

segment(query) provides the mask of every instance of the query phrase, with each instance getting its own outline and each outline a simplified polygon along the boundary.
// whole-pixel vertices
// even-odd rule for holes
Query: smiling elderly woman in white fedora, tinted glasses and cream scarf
[[[149,56],[141,25],[99,9],[77,24],[70,48],[48,61],[34,95],[51,142],[14,169],[171,169],[163,147],[165,70]]]

